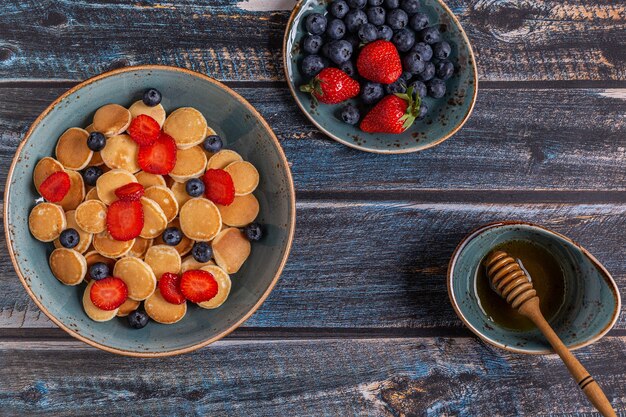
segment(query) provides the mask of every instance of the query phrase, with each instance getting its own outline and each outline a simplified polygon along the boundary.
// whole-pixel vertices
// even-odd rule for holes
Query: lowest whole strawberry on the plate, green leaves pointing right
[[[407,130],[419,115],[420,98],[413,97],[413,89],[406,94],[384,97],[370,110],[361,122],[360,128],[368,133],[399,134]]]

